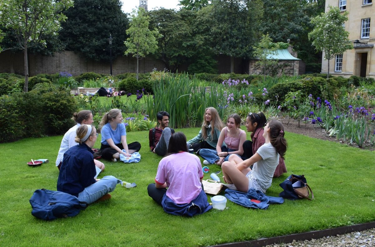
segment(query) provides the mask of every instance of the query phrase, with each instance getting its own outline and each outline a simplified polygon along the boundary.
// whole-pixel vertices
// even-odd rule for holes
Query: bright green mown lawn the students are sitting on
[[[190,139],[199,128],[181,131]],[[128,142],[142,144],[141,161],[104,161],[106,169],[99,178],[113,175],[137,187],[118,185],[111,200],[94,203],[76,217],[51,222],[33,217],[28,200],[35,189],[56,189],[55,160],[62,136],[1,143],[0,246],[209,246],[375,220],[373,151],[293,133],[285,137],[288,173],[273,180],[267,195],[278,196],[279,183],[291,173],[305,174],[313,201],[285,200],[267,210],[228,201],[226,210],[192,218],[166,214],[146,189],[154,181],[161,157],[149,151],[148,132],[129,132]],[[100,147],[100,139],[99,135],[95,147]],[[26,162],[31,158],[48,158],[49,163],[29,167]],[[219,169],[210,165],[204,179]]]

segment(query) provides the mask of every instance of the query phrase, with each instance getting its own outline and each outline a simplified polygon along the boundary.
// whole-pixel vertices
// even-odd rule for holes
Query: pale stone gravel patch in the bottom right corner
[[[327,236],[320,239],[295,241],[292,243],[272,244],[266,247],[374,247],[375,228],[362,232]]]

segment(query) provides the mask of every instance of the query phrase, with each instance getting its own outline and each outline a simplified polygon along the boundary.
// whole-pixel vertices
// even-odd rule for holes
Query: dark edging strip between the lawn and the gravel
[[[236,242],[236,243],[228,243],[228,244],[219,244],[211,247],[263,247],[270,244],[281,244],[281,243],[292,243],[293,240],[296,241],[304,241],[304,240],[311,240],[311,239],[319,239],[327,236],[336,236],[347,234],[350,232],[355,231],[364,231],[371,228],[375,228],[375,221],[362,223],[352,226],[341,226],[338,228],[330,228],[320,231],[311,231],[311,232],[302,232],[297,234],[291,235],[284,235],[280,237],[272,237],[272,238],[260,238],[258,240],[252,241],[243,241],[243,242]]]

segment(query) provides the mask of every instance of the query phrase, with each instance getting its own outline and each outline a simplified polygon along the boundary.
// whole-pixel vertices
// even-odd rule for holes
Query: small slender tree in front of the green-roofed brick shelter
[[[263,35],[258,45],[254,47],[254,57],[259,59],[255,64],[263,67],[264,81],[266,81],[267,67],[278,64],[277,59],[270,59],[271,56],[277,54],[277,49],[279,49],[279,46],[272,43],[272,39],[270,38],[269,34]]]

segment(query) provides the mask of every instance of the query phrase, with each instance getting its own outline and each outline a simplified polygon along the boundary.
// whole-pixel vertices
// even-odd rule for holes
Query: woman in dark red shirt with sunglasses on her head
[[[250,158],[255,152],[257,152],[258,148],[264,144],[263,126],[266,122],[267,119],[263,112],[250,112],[248,117],[246,117],[246,130],[252,133],[251,141],[247,140],[243,143],[243,160]],[[273,177],[279,177],[285,172],[287,172],[287,167],[285,167],[284,159],[280,157],[279,165],[276,167]]]

